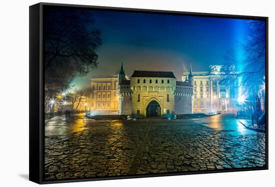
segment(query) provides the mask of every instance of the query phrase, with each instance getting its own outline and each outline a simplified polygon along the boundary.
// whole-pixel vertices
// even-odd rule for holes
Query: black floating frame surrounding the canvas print
[[[265,132],[265,155],[266,164],[264,167],[249,167],[249,168],[234,168],[221,170],[203,170],[203,171],[188,171],[176,173],[161,173],[161,174],[142,174],[142,175],[127,175],[127,176],[107,176],[96,178],[83,179],[60,179],[60,180],[44,180],[43,179],[43,155],[44,155],[44,71],[43,71],[43,7],[70,7],[70,8],[85,8],[97,10],[115,10],[127,12],[143,12],[157,14],[172,14],[186,16],[202,16],[215,18],[234,18],[248,20],[265,21],[266,31],[266,46],[265,46],[265,98],[266,98],[266,132]],[[84,5],[67,5],[67,4],[51,4],[39,3],[29,7],[29,180],[39,183],[60,183],[60,182],[76,182],[76,181],[92,181],[92,180],[108,180],[108,179],[123,179],[123,178],[141,178],[152,176],[170,176],[170,175],[185,175],[185,174],[200,174],[200,173],[218,173],[218,172],[233,172],[233,171],[249,171],[268,169],[268,18],[255,16],[239,16],[239,15],[223,15],[223,14],[208,14],[208,13],[191,13],[177,11],[160,11],[160,10],[145,10],[145,9],[129,9],[129,8],[114,8],[114,7],[98,7]]]

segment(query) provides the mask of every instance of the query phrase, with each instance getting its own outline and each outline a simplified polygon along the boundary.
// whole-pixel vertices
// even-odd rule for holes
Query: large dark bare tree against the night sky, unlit
[[[47,7],[44,10],[45,91],[64,90],[73,76],[97,67],[101,32],[90,10]]]

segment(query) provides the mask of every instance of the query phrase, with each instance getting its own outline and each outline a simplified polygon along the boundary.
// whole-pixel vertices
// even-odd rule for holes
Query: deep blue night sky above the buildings
[[[174,71],[177,80],[192,64],[193,71],[221,65],[230,49],[237,50],[248,32],[247,20],[91,10],[94,27],[102,32],[97,69],[71,84],[87,84],[97,75],[114,74],[121,60],[125,72]],[[235,54],[240,55],[240,54]]]

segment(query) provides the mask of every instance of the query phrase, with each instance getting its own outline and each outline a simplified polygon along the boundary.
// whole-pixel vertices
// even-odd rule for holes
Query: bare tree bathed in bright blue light
[[[222,71],[223,82],[235,81],[240,94],[246,95],[247,110],[258,122],[261,87],[265,78],[265,22],[250,20],[247,22],[251,34],[246,36],[245,42],[236,41],[243,53],[241,59],[229,50],[224,56],[225,63]],[[237,71],[235,67],[241,67]]]

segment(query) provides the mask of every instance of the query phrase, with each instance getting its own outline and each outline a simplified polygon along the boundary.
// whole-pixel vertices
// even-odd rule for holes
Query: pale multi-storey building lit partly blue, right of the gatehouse
[[[220,71],[222,66],[211,65],[208,71],[192,72],[193,112],[233,112],[236,111],[234,83],[222,84]],[[187,75],[182,76],[186,80]]]

